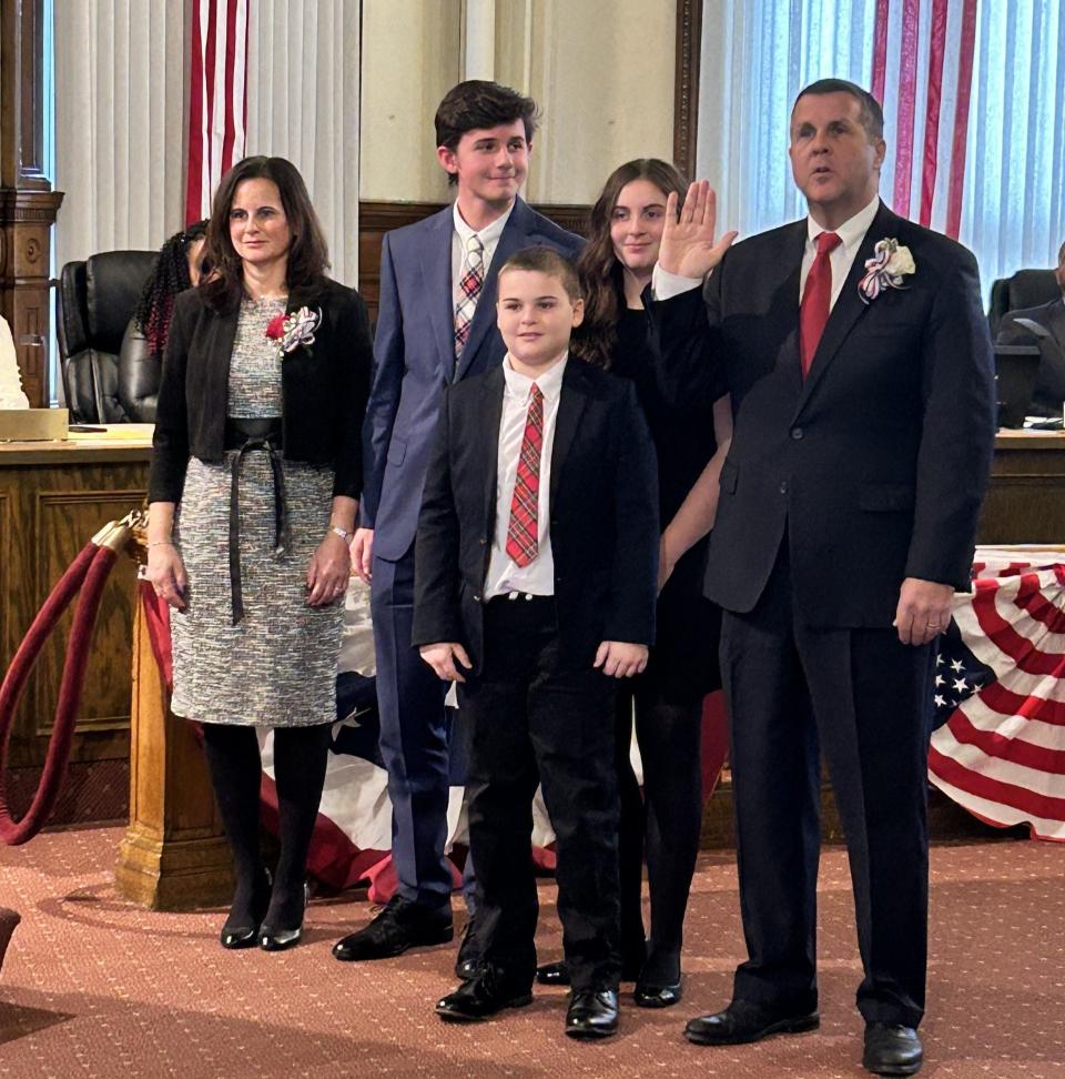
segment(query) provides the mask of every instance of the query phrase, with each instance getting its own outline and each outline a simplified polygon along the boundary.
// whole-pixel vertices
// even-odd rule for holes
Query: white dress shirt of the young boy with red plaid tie
[[[562,374],[568,353],[536,379],[518,374],[510,366],[510,356],[503,361],[505,389],[503,416],[499,421],[499,443],[496,456],[496,527],[491,537],[488,575],[485,577],[485,599],[508,592],[525,592],[534,596],[555,595],[555,556],[551,553],[550,492],[551,452],[555,445],[555,421],[562,395]],[[529,414],[529,394],[536,383],[544,394],[544,442],[540,450],[540,486],[537,494],[536,557],[519,566],[507,554],[507,530],[510,526],[510,502],[518,475],[518,458]]]

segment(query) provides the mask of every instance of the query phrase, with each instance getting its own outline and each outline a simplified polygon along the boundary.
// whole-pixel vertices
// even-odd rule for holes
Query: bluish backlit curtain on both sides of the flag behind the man
[[[919,41],[930,3],[920,4]],[[944,115],[961,4],[951,0],[944,56]],[[891,0],[884,87],[889,152],[881,193],[894,193],[900,0]],[[876,0],[706,0],[699,93],[699,175],[714,184],[721,229],[750,234],[805,212],[791,180],[788,119],[814,79],[870,87]],[[894,58],[894,59],[891,59]],[[910,215],[921,201],[927,59],[916,60]],[[941,122],[940,165],[952,120]],[[940,196],[933,228],[943,228]],[[996,278],[1055,264],[1065,240],[1065,6],[1058,0],[978,0],[976,50],[958,239],[980,262],[985,296]]]

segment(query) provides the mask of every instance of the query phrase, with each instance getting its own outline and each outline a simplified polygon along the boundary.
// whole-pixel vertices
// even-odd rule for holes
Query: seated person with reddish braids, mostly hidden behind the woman
[[[160,248],[151,276],[144,282],[136,310],[119,353],[119,400],[134,423],[155,422],[155,400],[170,333],[174,298],[200,283],[207,222],[176,232]]]

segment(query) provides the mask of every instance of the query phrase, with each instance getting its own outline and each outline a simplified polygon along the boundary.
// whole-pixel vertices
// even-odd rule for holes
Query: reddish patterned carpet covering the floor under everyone
[[[0,848],[0,905],[22,915],[0,976],[0,1076],[22,1077],[854,1077],[860,972],[846,856],[821,874],[822,1027],[759,1046],[704,1049],[684,1019],[722,1006],[742,938],[736,869],[703,855],[692,894],[687,996],[660,1012],[627,1007],[599,1045],[561,1032],[562,990],[474,1028],[445,1026],[454,949],[342,965],[329,947],[369,916],[357,899],[316,900],[304,945],[226,952],[217,912],[151,914],[115,896],[121,829],[42,835]],[[1065,1079],[1065,850],[1027,841],[933,851],[930,1015],[936,1079]],[[542,958],[560,950],[544,883]]]

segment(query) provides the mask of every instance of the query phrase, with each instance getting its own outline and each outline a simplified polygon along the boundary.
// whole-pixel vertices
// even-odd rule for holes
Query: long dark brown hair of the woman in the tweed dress
[[[233,165],[215,192],[204,250],[211,272],[200,282],[204,303],[215,311],[232,311],[244,294],[244,268],[230,239],[230,208],[237,186],[245,180],[271,180],[277,185],[292,232],[285,274],[288,291],[312,298],[325,284],[329,251],[307,186],[291,161],[257,157]]]

